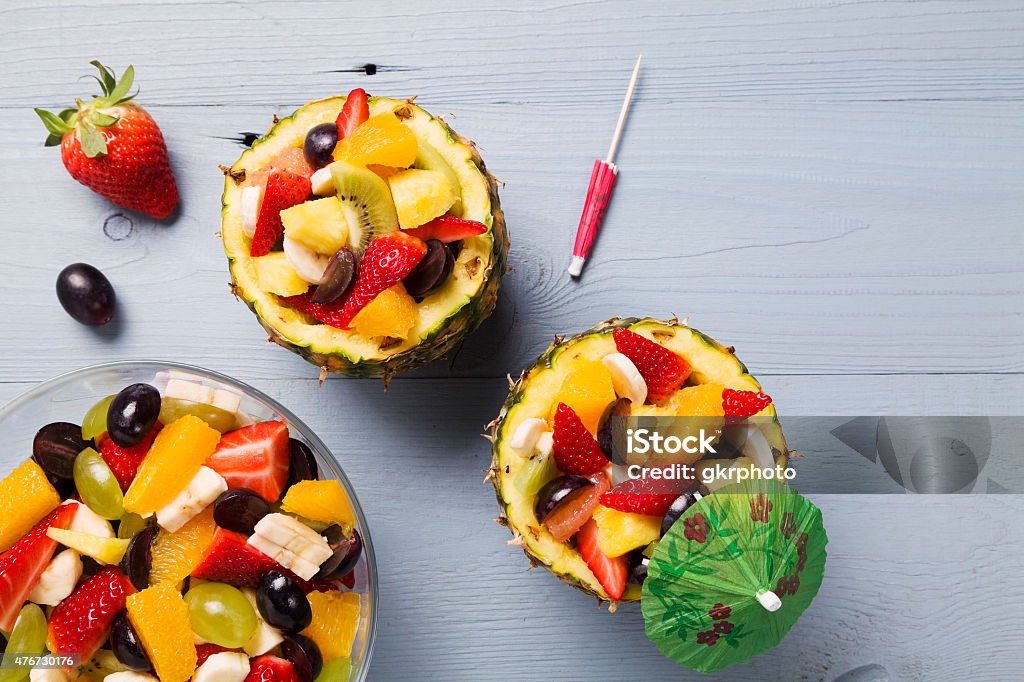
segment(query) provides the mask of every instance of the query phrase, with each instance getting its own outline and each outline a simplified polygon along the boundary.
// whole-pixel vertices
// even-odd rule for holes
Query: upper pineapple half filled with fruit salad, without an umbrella
[[[309,102],[225,176],[232,291],[322,378],[430,363],[495,307],[509,247],[498,183],[412,100]]]

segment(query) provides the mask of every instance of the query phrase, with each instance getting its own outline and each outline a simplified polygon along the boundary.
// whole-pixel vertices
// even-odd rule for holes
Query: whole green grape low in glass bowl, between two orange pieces
[[[193,630],[207,641],[233,649],[256,634],[256,611],[238,588],[204,583],[188,590],[185,603]]]

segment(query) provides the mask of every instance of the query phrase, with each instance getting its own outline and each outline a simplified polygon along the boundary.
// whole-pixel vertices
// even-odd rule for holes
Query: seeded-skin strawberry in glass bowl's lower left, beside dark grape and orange
[[[92,657],[111,634],[111,626],[124,610],[135,587],[114,566],[104,566],[82,583],[50,615],[46,645],[58,654]]]

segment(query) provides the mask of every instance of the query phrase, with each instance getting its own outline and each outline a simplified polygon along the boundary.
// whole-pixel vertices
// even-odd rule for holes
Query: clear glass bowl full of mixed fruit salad
[[[3,682],[366,677],[366,518],[285,408],[199,368],[115,363],[16,398],[0,433],[0,631],[8,655],[46,654]]]

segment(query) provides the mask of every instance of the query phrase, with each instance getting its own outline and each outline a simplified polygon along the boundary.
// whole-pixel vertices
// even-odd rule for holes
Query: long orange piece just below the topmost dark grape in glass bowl
[[[144,515],[170,504],[213,455],[219,440],[219,431],[193,415],[165,426],[125,494],[125,510]]]

